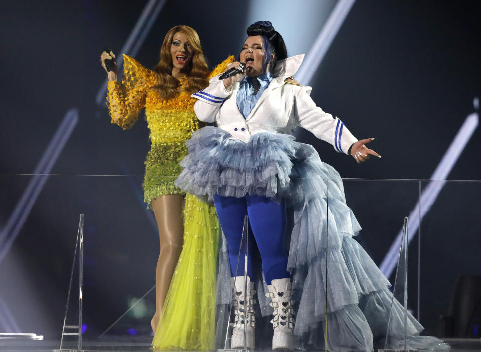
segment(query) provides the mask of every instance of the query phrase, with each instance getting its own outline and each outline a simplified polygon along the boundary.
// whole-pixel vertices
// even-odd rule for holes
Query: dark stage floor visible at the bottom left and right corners
[[[85,341],[83,351],[122,351],[122,352],[151,352],[150,338],[129,338],[123,337],[115,340]],[[481,339],[444,339],[451,346],[452,352],[481,351]],[[2,352],[52,352],[58,349],[60,341],[19,341],[0,340],[0,351]],[[65,344],[64,350],[76,350],[77,344]],[[268,352],[268,351],[267,351]],[[321,351],[319,351],[321,352]]]

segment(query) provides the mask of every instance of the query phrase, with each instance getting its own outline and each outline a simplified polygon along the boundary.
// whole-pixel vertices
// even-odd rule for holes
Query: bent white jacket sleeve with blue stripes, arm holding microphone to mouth
[[[194,105],[195,115],[200,121],[215,122],[215,115],[230,94],[231,92],[225,89],[224,83],[217,76],[212,77],[207,88],[191,95],[198,99]]]

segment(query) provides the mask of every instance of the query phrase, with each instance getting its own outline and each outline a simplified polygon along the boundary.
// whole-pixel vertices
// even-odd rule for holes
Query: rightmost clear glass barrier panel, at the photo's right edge
[[[425,334],[481,337],[480,181],[422,181],[421,312]]]

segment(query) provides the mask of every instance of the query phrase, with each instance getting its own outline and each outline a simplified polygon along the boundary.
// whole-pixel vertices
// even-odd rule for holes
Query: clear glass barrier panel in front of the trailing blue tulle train
[[[328,301],[333,311],[327,327],[328,350],[329,346],[384,349],[386,335],[393,335],[393,327],[396,340],[403,340],[403,319],[397,316],[396,324],[390,324],[392,285],[399,263],[403,220],[418,201],[419,183],[345,179],[343,185],[334,181],[330,185],[329,211],[336,226],[328,226],[328,282],[335,292],[332,302]],[[333,241],[334,237],[340,239],[340,245]],[[409,251],[416,253],[417,247],[409,247]],[[400,264],[403,279],[408,277],[408,281],[417,283],[417,260],[411,261],[410,267],[404,266],[404,261]],[[402,301],[404,296],[408,298],[406,307],[412,310],[417,304],[417,292],[407,283],[396,281],[395,293],[401,293],[397,298]],[[402,313],[402,303],[395,302],[399,308],[395,313]]]

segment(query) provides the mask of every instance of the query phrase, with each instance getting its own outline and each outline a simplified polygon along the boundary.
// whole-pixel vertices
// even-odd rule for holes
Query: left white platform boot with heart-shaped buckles
[[[231,278],[232,282],[234,277]],[[254,290],[254,282],[247,278],[247,297],[244,297],[244,276],[235,278],[234,296],[232,305],[235,314],[234,328],[232,330],[232,340],[230,348],[244,348],[244,300],[246,301],[246,347],[254,349],[254,327],[256,321],[254,318],[254,307],[256,301],[253,299],[256,291]]]

